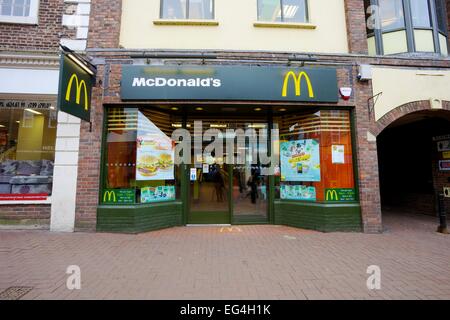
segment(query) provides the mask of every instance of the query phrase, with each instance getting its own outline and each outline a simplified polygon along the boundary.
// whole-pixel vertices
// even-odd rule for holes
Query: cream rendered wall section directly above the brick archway
[[[440,99],[450,101],[450,71],[372,69],[373,94],[382,92],[375,104],[375,120],[405,103]]]

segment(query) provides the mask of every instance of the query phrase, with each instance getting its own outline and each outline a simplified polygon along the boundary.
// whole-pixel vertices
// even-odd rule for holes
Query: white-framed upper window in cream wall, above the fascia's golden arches
[[[258,20],[268,22],[308,22],[307,0],[258,0]]]

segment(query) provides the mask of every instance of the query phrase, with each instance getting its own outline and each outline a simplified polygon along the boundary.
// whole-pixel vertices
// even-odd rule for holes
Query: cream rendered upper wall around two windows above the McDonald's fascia
[[[123,0],[120,44],[128,49],[348,52],[344,0],[310,0],[315,29],[255,27],[257,0],[215,0],[217,26],[155,25],[159,13],[159,0]]]

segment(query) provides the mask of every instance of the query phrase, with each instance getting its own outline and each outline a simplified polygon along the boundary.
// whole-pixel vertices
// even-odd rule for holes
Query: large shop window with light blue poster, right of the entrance
[[[320,110],[276,119],[280,170],[276,196],[311,202],[357,201],[349,111]]]

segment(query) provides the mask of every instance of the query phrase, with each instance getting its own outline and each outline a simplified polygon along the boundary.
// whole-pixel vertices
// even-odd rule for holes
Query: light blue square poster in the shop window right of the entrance
[[[317,140],[280,144],[281,181],[320,181],[320,148]]]

